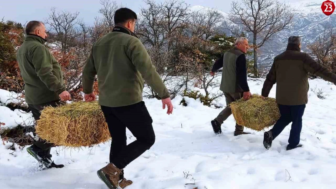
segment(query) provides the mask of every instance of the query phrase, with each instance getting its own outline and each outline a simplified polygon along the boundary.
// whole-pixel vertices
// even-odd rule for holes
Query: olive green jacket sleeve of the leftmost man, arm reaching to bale
[[[50,91],[59,95],[66,90],[66,87],[52,73],[52,57],[45,46],[38,46],[32,51],[32,63],[37,76]]]

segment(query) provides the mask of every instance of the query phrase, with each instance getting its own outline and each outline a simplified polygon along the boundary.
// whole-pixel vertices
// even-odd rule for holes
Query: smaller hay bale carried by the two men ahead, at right
[[[236,122],[244,127],[261,131],[274,125],[280,118],[275,98],[263,100],[260,95],[252,95],[247,101],[240,99],[230,104]]]

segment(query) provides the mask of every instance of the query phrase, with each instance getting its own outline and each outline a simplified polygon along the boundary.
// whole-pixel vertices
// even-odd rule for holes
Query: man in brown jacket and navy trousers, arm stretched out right
[[[301,52],[301,38],[290,36],[287,50],[274,58],[267,74],[261,95],[268,97],[272,86],[277,83],[276,99],[281,117],[274,127],[264,133],[264,146],[269,149],[285,127],[292,122],[287,150],[302,147],[300,133],[302,116],[308,102],[308,73],[317,75],[336,85],[336,75],[317,63],[308,54]]]

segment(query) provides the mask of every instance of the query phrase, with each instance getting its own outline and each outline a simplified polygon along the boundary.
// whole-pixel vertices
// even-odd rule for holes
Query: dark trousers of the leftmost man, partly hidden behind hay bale
[[[62,102],[60,100],[56,100],[56,101],[51,101],[51,102],[47,102],[47,103],[43,103],[43,104],[28,104],[28,107],[32,111],[34,119],[39,120],[40,116],[41,116],[41,111],[43,110],[43,108],[45,106],[56,107],[60,104],[64,104],[64,102]],[[35,145],[36,147],[40,148],[43,151],[47,151],[48,154],[50,153],[51,147],[54,146],[54,144],[48,143],[47,141],[45,141],[41,138],[39,138],[38,141],[35,141],[33,143],[33,145]]]

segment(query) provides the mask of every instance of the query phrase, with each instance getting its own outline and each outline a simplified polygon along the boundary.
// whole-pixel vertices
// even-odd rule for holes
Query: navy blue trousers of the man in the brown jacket
[[[302,129],[302,116],[305,107],[305,104],[296,106],[279,104],[281,117],[272,128],[273,140],[292,122],[288,143],[290,147],[295,147],[299,144]]]

